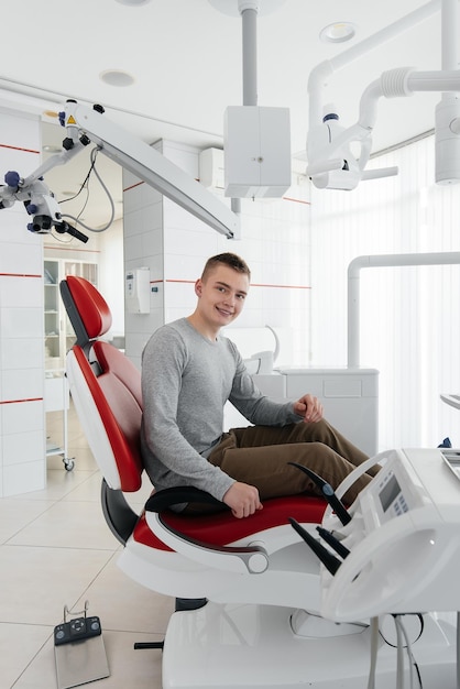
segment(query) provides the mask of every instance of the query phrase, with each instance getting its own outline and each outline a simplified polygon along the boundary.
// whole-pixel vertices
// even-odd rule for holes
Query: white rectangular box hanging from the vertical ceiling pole
[[[229,106],[223,150],[226,196],[283,196],[291,186],[288,108]]]

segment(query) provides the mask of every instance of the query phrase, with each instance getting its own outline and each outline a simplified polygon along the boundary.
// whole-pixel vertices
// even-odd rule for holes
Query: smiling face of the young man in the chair
[[[232,267],[219,264],[195,284],[198,310],[209,325],[228,326],[241,313],[249,292],[249,278]]]

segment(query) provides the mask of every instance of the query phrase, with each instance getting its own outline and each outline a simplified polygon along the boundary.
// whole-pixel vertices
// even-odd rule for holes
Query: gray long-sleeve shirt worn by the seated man
[[[291,402],[260,393],[231,340],[211,342],[186,318],[158,328],[145,346],[142,395],[141,447],[154,486],[195,485],[218,500],[234,481],[206,457],[221,438],[228,400],[254,425],[299,420]]]

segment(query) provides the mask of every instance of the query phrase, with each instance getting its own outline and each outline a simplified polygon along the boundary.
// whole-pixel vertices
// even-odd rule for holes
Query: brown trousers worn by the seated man
[[[300,422],[284,427],[249,426],[223,434],[208,461],[236,481],[258,488],[261,501],[283,495],[318,495],[315,483],[303,471],[308,467],[337,489],[368,457],[326,420]],[[377,469],[360,477],[343,496],[351,504]]]

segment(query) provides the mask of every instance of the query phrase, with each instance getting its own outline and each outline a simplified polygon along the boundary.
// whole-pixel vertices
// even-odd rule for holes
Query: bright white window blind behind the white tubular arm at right
[[[347,364],[347,270],[358,255],[460,251],[460,184],[435,185],[434,136],[373,161],[399,175],[311,192],[311,364]],[[380,449],[460,446],[460,266],[361,271],[360,365],[380,371]],[[327,414],[327,409],[326,409]]]

